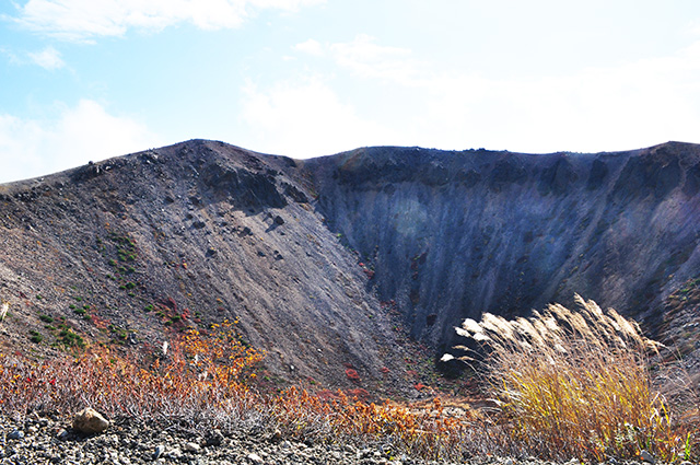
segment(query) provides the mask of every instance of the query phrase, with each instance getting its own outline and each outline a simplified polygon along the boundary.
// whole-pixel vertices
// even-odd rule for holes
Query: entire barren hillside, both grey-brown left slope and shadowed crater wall
[[[70,329],[155,350],[238,319],[272,386],[406,393],[482,312],[578,292],[667,328],[667,298],[700,275],[699,191],[700,146],[678,142],[299,161],[192,140],[0,186],[0,341],[39,356]]]

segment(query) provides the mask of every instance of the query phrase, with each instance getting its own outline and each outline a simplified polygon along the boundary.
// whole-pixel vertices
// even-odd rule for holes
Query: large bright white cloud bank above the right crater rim
[[[387,133],[388,143],[596,152],[667,140],[700,142],[700,42],[667,57],[503,79],[422,62],[408,49],[383,46],[364,35],[323,50],[338,67],[364,79],[362,86],[394,84],[390,94],[400,107],[383,119],[396,136],[390,140]],[[342,94],[331,81],[325,85],[334,95]],[[369,94],[376,95],[376,90]],[[357,100],[352,108],[366,114],[373,106],[376,102]],[[357,140],[360,143],[349,147],[370,143],[371,138]]]

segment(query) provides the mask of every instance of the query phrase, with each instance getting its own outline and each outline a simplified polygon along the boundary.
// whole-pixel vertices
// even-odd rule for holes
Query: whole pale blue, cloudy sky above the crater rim
[[[700,2],[0,1],[0,183],[195,138],[299,159],[700,143]]]

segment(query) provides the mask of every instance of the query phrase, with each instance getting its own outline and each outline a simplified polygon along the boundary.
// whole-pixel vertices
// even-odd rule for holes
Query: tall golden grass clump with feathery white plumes
[[[485,377],[515,443],[562,460],[689,458],[697,432],[676,422],[653,388],[658,345],[615,310],[575,297],[529,318],[485,314],[457,332],[482,344]]]

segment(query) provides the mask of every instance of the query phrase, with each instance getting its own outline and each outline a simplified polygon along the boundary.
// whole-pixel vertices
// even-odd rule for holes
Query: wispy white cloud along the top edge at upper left
[[[90,42],[129,28],[160,31],[183,22],[203,30],[238,27],[256,11],[296,11],[325,0],[30,0],[14,21],[51,37]]]

